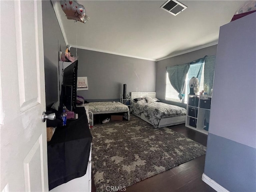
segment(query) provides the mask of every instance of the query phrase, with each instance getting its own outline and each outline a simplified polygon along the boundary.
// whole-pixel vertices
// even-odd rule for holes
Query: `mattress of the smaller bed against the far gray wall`
[[[89,111],[91,111],[93,114],[127,112],[127,120],[130,120],[130,111],[128,106],[120,102],[90,102],[84,105],[87,105]]]

